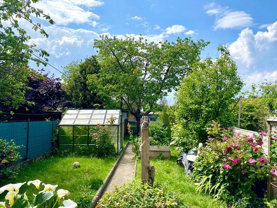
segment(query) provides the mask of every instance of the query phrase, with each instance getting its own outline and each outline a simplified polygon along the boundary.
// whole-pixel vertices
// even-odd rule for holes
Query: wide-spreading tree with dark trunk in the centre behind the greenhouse
[[[88,76],[89,88],[109,106],[134,115],[139,130],[140,111],[143,109],[144,115],[156,111],[158,99],[179,86],[207,44],[190,38],[158,44],[142,37],[101,36],[94,40],[100,70]]]

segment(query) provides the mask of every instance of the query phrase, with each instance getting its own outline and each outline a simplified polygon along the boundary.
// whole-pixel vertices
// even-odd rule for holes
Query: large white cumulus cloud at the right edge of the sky
[[[277,21],[270,24],[265,32],[254,34],[249,28],[243,29],[237,40],[229,45],[229,50],[246,81],[246,87],[265,79],[276,80]]]

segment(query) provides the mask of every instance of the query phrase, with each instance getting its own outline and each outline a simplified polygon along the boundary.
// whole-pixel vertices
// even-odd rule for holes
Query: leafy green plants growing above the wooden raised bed
[[[160,121],[152,121],[149,123],[149,139],[150,145],[168,145],[170,142],[170,131],[168,126],[162,126]]]

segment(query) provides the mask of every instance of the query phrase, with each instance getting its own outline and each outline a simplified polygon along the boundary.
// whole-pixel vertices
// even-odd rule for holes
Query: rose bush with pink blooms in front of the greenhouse
[[[104,158],[108,156],[114,156],[116,154],[116,148],[111,141],[110,126],[92,126],[89,130],[91,141],[95,144],[95,156],[98,158]]]

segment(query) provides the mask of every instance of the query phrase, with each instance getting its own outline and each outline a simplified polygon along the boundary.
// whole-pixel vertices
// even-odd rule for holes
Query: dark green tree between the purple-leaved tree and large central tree
[[[97,74],[100,65],[95,56],[86,58],[84,61],[73,61],[63,67],[63,85],[66,97],[70,99],[71,107],[94,108],[100,107],[103,103],[97,98],[96,93],[89,93],[88,75]],[[83,89],[82,89],[83,88]]]

